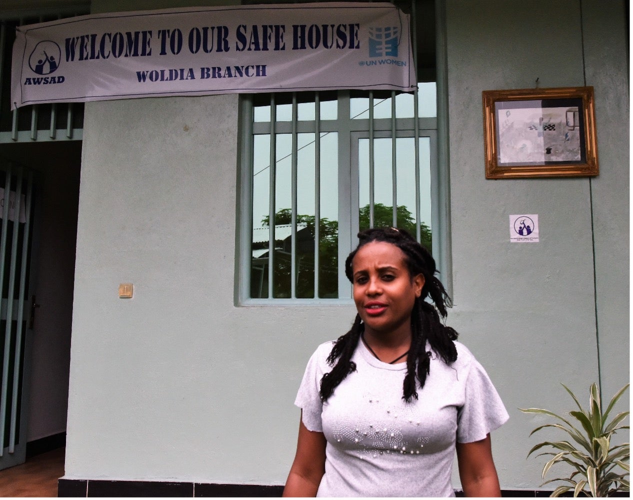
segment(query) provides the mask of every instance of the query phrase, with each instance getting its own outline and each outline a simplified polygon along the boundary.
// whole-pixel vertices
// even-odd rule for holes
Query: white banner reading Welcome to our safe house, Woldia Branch
[[[409,16],[391,3],[186,8],[18,27],[11,108],[415,85]]]

